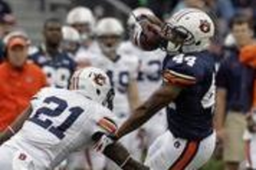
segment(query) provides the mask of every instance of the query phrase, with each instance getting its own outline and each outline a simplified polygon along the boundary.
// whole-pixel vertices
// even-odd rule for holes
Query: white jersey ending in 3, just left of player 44
[[[142,101],[148,99],[148,97],[162,83],[161,69],[166,53],[161,49],[157,49],[155,51],[143,51],[134,46],[131,41],[122,43],[119,51],[121,54],[135,55],[139,57],[139,95]]]

